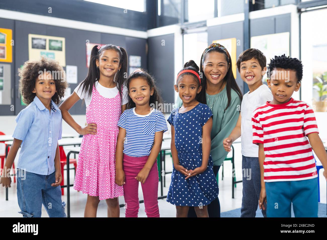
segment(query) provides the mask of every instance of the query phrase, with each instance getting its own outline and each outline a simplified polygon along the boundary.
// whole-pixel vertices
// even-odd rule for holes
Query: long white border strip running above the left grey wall
[[[31,13],[10,11],[5,9],[0,9],[0,17],[12,20],[35,22],[59,27],[75,28],[86,31],[100,32],[100,33],[110,33],[136,38],[147,38],[146,31],[137,31],[120,27],[112,27],[107,25],[80,22],[69,19],[55,18],[43,15],[36,15]]]

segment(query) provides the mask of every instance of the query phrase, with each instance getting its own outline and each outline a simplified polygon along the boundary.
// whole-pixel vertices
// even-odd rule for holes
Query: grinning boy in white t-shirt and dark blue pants
[[[258,146],[252,143],[251,116],[253,111],[272,100],[272,94],[267,85],[262,83],[262,77],[267,71],[266,57],[258,49],[250,48],[240,54],[237,68],[242,80],[248,84],[249,92],[244,94],[241,104],[241,114],[237,124],[223,144],[226,151],[231,151],[233,141],[241,136],[243,197],[241,217],[255,217],[260,196],[260,167],[258,159]],[[262,209],[266,217],[266,210]]]

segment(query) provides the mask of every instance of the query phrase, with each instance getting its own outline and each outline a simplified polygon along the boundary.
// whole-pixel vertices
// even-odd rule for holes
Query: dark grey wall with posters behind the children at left
[[[10,22],[11,21],[11,22]],[[12,84],[15,85],[13,104],[15,111],[8,112],[9,107],[0,105],[0,115],[17,115],[26,106],[21,106],[20,95],[18,94],[19,77],[17,69],[28,60],[28,34],[40,34],[56,37],[64,37],[66,43],[66,65],[77,66],[77,81],[80,83],[86,77],[88,68],[86,67],[86,40],[91,43],[112,43],[126,48],[128,55],[141,56],[142,68],[146,68],[146,39],[126,37],[121,35],[97,33],[72,28],[57,27],[31,22],[13,21],[0,18],[0,26],[13,29],[13,38],[15,41],[12,63]],[[64,68],[65,69],[65,68]],[[77,87],[77,84],[70,84],[71,91]],[[85,114],[85,105],[82,107],[82,101],[78,101],[70,110],[71,114]],[[4,111],[2,111],[4,108]]]

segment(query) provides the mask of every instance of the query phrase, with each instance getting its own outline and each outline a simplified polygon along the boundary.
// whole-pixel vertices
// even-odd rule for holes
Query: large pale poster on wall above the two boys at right
[[[268,65],[270,59],[275,56],[283,54],[289,56],[289,32],[251,37],[251,48],[256,48],[263,52],[266,56]],[[262,78],[263,82],[266,80],[267,73]]]

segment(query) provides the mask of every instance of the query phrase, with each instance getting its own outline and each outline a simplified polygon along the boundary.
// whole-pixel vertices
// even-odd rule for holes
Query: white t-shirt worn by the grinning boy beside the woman
[[[252,113],[258,107],[272,101],[273,97],[267,85],[263,84],[252,93],[247,92],[243,95],[241,103],[241,153],[245,157],[258,158],[258,145],[252,143]]]

